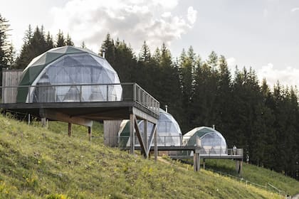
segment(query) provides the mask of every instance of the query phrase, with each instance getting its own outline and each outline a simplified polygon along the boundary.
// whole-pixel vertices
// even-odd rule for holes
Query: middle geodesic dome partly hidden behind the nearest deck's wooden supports
[[[154,124],[147,122],[147,136],[150,138],[152,127]],[[144,122],[138,122],[138,127],[143,138]],[[179,128],[179,124],[172,117],[171,114],[165,112],[163,109],[159,109],[159,120],[157,123],[157,145],[158,146],[182,146],[182,131]],[[130,146],[130,121],[124,120],[120,124],[120,146]],[[139,141],[136,138],[135,144],[138,146]]]

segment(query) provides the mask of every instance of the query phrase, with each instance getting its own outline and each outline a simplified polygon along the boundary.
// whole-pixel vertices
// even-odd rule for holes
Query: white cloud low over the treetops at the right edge
[[[271,86],[275,85],[277,80],[280,82],[280,85],[299,85],[299,69],[293,67],[276,69],[272,63],[268,63],[257,71],[257,75],[259,80],[266,78],[268,85]]]

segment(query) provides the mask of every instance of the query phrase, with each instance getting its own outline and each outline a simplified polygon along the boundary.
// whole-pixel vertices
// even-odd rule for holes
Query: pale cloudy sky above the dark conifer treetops
[[[165,43],[173,57],[190,45],[205,60],[214,50],[231,72],[252,67],[269,85],[299,85],[298,0],[0,0],[11,24],[10,39],[21,48],[28,25],[43,25],[55,37],[70,33],[98,53],[107,33],[130,43]]]

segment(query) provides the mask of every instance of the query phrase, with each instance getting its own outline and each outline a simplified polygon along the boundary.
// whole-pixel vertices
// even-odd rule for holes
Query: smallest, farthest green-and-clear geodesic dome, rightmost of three
[[[183,136],[184,146],[194,146],[196,139],[199,139],[201,144],[201,154],[227,154],[226,140],[219,131],[210,127],[197,127],[187,132]]]

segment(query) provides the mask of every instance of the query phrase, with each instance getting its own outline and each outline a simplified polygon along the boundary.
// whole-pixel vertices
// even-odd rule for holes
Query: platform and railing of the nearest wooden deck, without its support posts
[[[137,117],[149,117],[150,122],[154,122],[159,119],[159,102],[154,99],[145,90],[142,90],[140,86],[135,83],[120,84],[125,87],[123,90],[123,98],[120,100],[101,100],[101,102],[95,101],[79,101],[79,102],[22,102],[17,103],[1,103],[0,108],[13,112],[23,112],[32,114],[36,117],[45,117],[45,112],[59,112],[61,114],[68,115],[68,117],[80,117],[91,120],[103,120],[103,119],[130,119],[130,114],[135,112]],[[65,87],[68,85],[51,85],[51,89],[56,87]],[[89,85],[73,85],[86,87]],[[113,86],[112,85],[90,85],[90,86]],[[37,86],[28,86],[28,90],[32,88],[36,89]],[[17,91],[18,87],[2,87],[3,90]],[[47,87],[42,87],[47,89]],[[80,90],[82,92],[82,88]],[[108,92],[108,90],[107,90]],[[45,92],[46,93],[46,92]],[[81,93],[79,94],[81,96]],[[108,96],[108,94],[105,94]],[[50,97],[44,97],[43,100]]]

